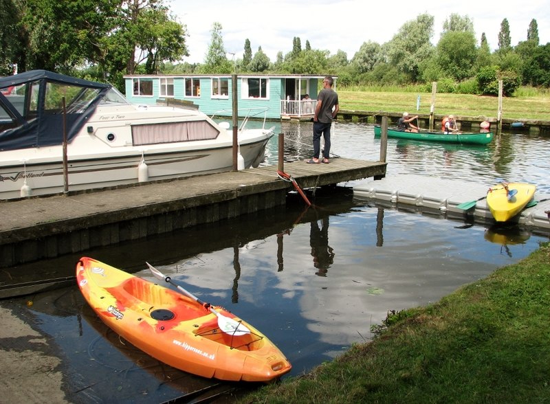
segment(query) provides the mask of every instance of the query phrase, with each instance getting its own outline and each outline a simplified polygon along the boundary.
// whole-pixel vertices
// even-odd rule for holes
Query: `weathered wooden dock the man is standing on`
[[[286,163],[300,188],[384,177],[386,163],[336,158]],[[0,202],[0,268],[212,223],[283,205],[292,183],[277,166],[95,192]]]

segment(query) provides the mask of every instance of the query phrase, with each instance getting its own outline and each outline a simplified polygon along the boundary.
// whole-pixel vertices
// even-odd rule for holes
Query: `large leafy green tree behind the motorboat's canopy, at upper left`
[[[25,49],[20,71],[74,74],[86,65],[95,78],[110,74],[113,80],[132,74],[139,61],[146,62],[144,71],[153,72],[162,61],[187,54],[186,29],[163,0],[13,1],[21,15],[20,37],[10,41]]]

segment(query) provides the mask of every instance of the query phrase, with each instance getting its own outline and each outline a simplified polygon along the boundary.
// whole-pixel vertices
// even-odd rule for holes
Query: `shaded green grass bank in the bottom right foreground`
[[[550,244],[243,403],[550,402]]]

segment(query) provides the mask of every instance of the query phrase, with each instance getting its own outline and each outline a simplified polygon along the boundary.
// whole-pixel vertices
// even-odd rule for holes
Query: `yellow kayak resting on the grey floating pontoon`
[[[530,183],[500,183],[487,191],[487,206],[494,220],[505,222],[523,210],[533,199],[536,186]]]

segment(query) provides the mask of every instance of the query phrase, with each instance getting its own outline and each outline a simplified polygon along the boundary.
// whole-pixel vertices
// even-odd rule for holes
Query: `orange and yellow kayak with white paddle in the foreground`
[[[250,324],[93,258],[80,258],[76,280],[102,321],[151,357],[202,377],[272,381],[292,366]],[[221,330],[219,318],[246,332]]]

